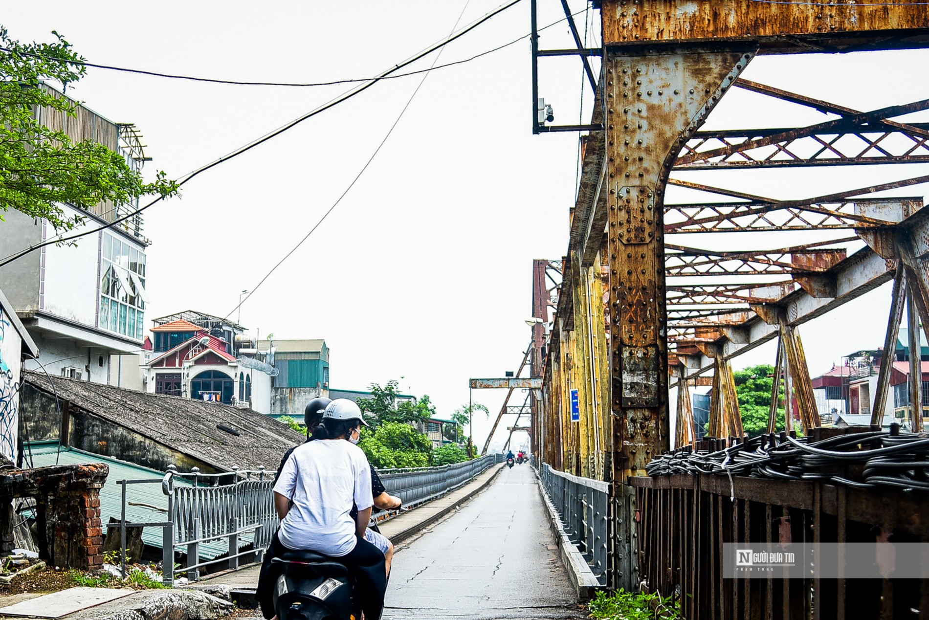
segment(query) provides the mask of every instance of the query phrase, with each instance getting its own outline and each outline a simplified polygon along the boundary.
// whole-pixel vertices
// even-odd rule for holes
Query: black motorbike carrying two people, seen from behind
[[[371,526],[380,530],[376,524]],[[274,587],[274,611],[280,620],[358,620],[361,603],[355,580],[337,558],[316,551],[287,551],[271,563],[282,571]]]

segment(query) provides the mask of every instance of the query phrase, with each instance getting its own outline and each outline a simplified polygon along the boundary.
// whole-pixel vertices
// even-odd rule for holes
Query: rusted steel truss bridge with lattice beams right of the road
[[[533,276],[533,315],[544,324],[533,327],[529,353],[531,376],[542,379],[541,395],[531,407],[532,450],[553,468],[610,483],[610,584],[693,593],[707,574],[681,566],[695,557],[685,550],[687,535],[712,547],[723,534],[738,538],[732,527],[744,522],[748,532],[751,519],[764,520],[765,514],[780,518],[807,510],[811,522],[821,521],[823,510],[836,514],[836,505],[823,504],[824,497],[832,497],[828,485],[805,486],[811,499],[803,506],[777,499],[783,493],[777,485],[759,491],[758,485],[743,484],[738,488],[746,495],[741,496],[734,485],[735,504],[724,509],[717,501],[723,491],[701,490],[700,481],[670,486],[646,481],[653,457],[673,445],[694,444],[702,432],[693,421],[690,389],[712,386],[708,426],[714,441],[741,437],[732,361],[776,342],[774,389],[786,387],[797,416],[789,410],[778,422],[776,400],[768,429],[812,435],[820,432],[822,419],[805,360],[804,323],[894,283],[885,350],[896,346],[904,310],[914,327],[910,350],[919,350],[920,331],[929,327],[929,210],[922,200],[929,176],[913,176],[912,166],[906,166],[929,163],[929,123],[904,120],[929,111],[929,99],[857,110],[761,84],[743,73],[758,55],[929,46],[929,5],[902,0],[595,4],[602,10],[602,71],[587,125],[591,130],[582,137],[569,247],[560,260],[537,260]],[[733,90],[824,112],[827,120],[702,129]],[[800,199],[761,195],[756,184],[739,187],[732,176],[802,166],[828,174],[849,165],[899,164],[905,165],[884,168],[902,171],[896,180],[828,194],[810,186]],[[720,170],[728,171],[725,186],[715,180],[722,175],[713,177]],[[707,198],[674,202],[678,195]],[[706,237],[722,232],[734,234]],[[745,242],[754,232],[765,234],[752,239],[765,241]],[[783,241],[772,242],[773,233]],[[554,268],[557,278],[549,281],[546,270]],[[555,310],[551,316],[549,308]],[[918,362],[910,373],[915,381],[922,377]],[[873,406],[869,402],[872,424],[882,423],[890,376],[888,361],[878,372]],[[913,383],[911,402],[920,403]],[[914,407],[920,411],[922,404]],[[922,416],[912,416],[911,424],[913,431],[922,431]],[[677,518],[664,514],[665,508],[680,509],[681,519],[708,518],[719,532],[694,530],[698,521],[686,527],[678,523],[675,527],[684,529],[674,535],[680,538],[662,542],[661,528]],[[842,523],[851,519],[844,510],[838,515]],[[873,519],[872,527],[894,527]],[[766,535],[770,539],[770,528]],[[916,535],[929,542],[929,528]],[[645,548],[646,541],[662,547]],[[710,551],[716,553],[711,561],[721,562],[720,549]],[[720,579],[719,591],[700,590],[713,598],[686,603],[687,617],[750,617],[745,601],[755,594],[760,598],[752,600],[769,605],[794,596],[787,589],[775,595],[770,587],[767,594],[724,587],[713,570],[709,574]],[[921,617],[929,617],[929,587],[922,590]],[[810,600],[819,600],[821,607]],[[831,590],[828,596],[817,590],[796,604],[784,603],[773,617],[792,617],[804,605],[826,614],[820,617],[845,613]]]

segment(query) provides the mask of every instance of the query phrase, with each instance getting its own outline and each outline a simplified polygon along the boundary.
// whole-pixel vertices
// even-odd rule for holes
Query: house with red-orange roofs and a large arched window
[[[154,323],[150,360],[141,366],[146,391],[271,413],[273,346],[259,350],[242,325],[196,310]]]

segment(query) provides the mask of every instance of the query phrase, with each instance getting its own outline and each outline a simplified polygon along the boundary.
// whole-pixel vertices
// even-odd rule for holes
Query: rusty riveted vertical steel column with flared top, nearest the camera
[[[754,46],[607,50],[609,346],[614,483],[670,448],[663,202],[681,146],[754,56]]]

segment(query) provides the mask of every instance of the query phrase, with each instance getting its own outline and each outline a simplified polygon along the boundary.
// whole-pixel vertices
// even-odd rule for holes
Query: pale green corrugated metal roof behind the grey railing
[[[29,446],[29,444],[27,444]],[[150,468],[140,468],[132,463],[126,463],[107,456],[92,455],[76,448],[62,447],[56,442],[35,443],[23,448],[26,454],[31,449],[33,467],[42,468],[49,465],[76,465],[83,463],[104,463],[110,468],[107,481],[100,489],[100,521],[103,522],[104,532],[106,524],[111,519],[119,521],[122,502],[123,486],[117,484],[121,480],[151,480],[144,484],[127,484],[125,489],[125,520],[132,523],[148,523],[168,520],[168,498],[162,491],[164,471]],[[175,478],[175,484],[190,486],[189,481]],[[150,547],[162,548],[163,530],[160,527],[147,527],[142,530],[142,541]],[[240,537],[241,547],[252,542],[251,533]],[[186,553],[187,547],[177,547],[177,551]],[[229,552],[229,543],[226,539],[216,542],[203,543],[200,546],[200,556],[203,560],[214,558]]]

